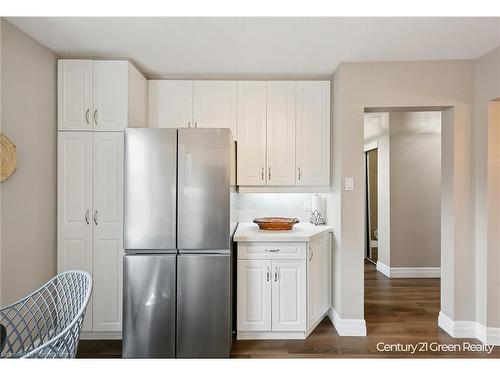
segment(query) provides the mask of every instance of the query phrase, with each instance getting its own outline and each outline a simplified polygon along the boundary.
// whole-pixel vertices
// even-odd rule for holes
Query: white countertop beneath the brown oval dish
[[[264,231],[254,223],[239,223],[234,234],[236,242],[307,242],[317,234],[333,232],[327,225],[314,225],[310,223],[298,223],[292,230],[287,231]]]

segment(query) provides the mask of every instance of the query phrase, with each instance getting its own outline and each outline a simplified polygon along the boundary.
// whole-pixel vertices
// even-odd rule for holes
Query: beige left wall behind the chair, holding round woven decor
[[[2,304],[56,273],[56,55],[1,20],[2,131],[17,171],[2,183]]]

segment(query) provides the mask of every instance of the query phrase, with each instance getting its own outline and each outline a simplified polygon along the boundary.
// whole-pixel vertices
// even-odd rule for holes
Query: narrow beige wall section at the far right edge
[[[500,47],[476,62],[475,111],[475,202],[476,202],[476,294],[478,321],[500,327],[500,209],[497,186],[500,143],[491,101],[500,98]],[[490,210],[488,211],[488,208]]]

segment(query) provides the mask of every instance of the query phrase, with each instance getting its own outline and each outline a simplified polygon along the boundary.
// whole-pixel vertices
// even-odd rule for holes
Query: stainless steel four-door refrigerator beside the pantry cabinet
[[[127,129],[124,358],[228,357],[234,142],[229,129]]]

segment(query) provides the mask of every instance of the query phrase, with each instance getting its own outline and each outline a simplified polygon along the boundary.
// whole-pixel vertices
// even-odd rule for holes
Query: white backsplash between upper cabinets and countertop
[[[311,198],[312,194],[305,193],[240,193],[238,221],[251,222],[254,218],[262,216],[285,216],[309,222]]]

